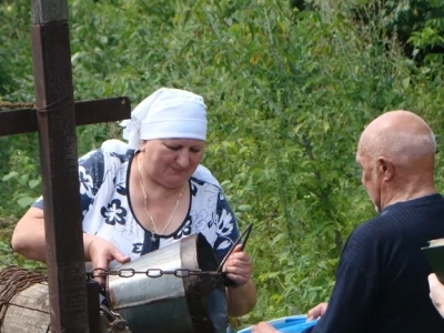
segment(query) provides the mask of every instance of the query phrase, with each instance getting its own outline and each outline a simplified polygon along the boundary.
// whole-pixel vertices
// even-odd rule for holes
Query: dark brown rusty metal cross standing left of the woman
[[[0,112],[0,135],[39,131],[51,332],[88,321],[75,125],[130,118],[128,98],[75,102],[68,1],[31,1],[36,108]],[[95,332],[91,332],[95,333]]]

